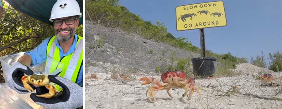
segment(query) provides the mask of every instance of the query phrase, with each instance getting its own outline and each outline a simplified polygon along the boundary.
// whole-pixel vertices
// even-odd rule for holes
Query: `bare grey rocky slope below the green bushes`
[[[104,73],[113,70],[119,73],[154,73],[157,66],[161,66],[161,71],[166,71],[171,59],[185,58],[191,61],[200,57],[199,54],[145,40],[142,36],[129,35],[118,29],[93,27],[91,21],[86,21],[85,39],[86,69],[89,66],[99,67],[107,70]],[[114,66],[119,67],[113,69]],[[186,67],[191,69],[191,66]],[[86,70],[86,74],[89,72]]]

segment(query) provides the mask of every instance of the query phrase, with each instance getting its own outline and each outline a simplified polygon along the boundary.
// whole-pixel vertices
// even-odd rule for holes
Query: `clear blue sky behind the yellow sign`
[[[214,0],[217,1],[217,0]],[[234,56],[250,57],[282,50],[282,1],[281,0],[222,0],[227,26],[206,28],[206,49],[214,53],[230,52]],[[186,37],[200,48],[199,29],[177,31],[175,7],[181,5],[213,2],[211,0],[119,0],[146,21],[164,22],[168,32],[177,37]],[[185,40],[186,41],[186,40]],[[237,55],[238,54],[238,55]],[[267,64],[269,59],[266,59]]]

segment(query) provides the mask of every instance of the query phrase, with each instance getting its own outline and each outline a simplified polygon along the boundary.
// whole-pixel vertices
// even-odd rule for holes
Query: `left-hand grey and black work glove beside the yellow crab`
[[[8,74],[8,86],[19,94],[29,93],[29,91],[24,88],[24,84],[21,82],[21,78],[24,76],[24,73],[27,75],[32,75],[33,71],[29,69],[29,67],[16,62],[12,65],[11,71]],[[32,84],[30,84],[30,86],[33,88],[33,90],[35,90],[35,87]]]

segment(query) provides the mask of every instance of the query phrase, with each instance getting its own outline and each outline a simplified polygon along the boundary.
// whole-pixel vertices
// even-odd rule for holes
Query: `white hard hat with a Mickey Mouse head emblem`
[[[58,0],[52,8],[49,21],[53,22],[52,19],[70,16],[82,17],[80,7],[76,0]]]

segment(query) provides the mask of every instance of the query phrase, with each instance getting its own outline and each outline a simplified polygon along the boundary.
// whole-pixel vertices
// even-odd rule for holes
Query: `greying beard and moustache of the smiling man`
[[[70,31],[70,34],[60,36],[60,34],[59,34],[60,31]],[[59,29],[55,30],[55,34],[58,36],[58,40],[62,41],[62,42],[68,41],[72,36],[75,35],[75,33],[76,33],[76,27],[74,27],[73,29],[71,29],[71,28],[65,28],[65,29],[59,28]]]

